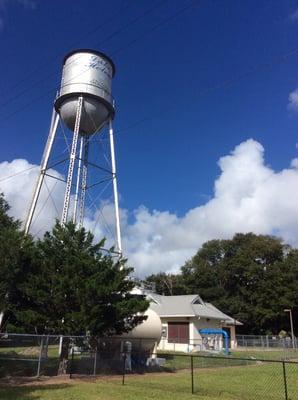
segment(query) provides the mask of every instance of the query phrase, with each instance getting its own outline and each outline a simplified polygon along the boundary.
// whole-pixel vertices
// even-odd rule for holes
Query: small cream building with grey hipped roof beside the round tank
[[[230,348],[237,346],[235,327],[242,323],[205,303],[199,295],[161,296],[147,292],[147,298],[150,309],[162,322],[159,350],[221,350],[222,335],[201,335],[201,329],[223,329],[229,335]]]

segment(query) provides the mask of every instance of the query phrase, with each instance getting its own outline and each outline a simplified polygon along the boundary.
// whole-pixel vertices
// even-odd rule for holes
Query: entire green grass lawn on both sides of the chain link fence
[[[36,359],[38,347],[12,347],[0,349],[0,376],[35,376],[37,363],[21,358]],[[200,354],[200,353],[199,353]],[[203,353],[202,353],[203,354]],[[202,355],[201,354],[201,355]],[[204,353],[206,355],[206,353]],[[203,355],[204,355],[203,354]],[[297,356],[297,352],[294,353]],[[51,345],[48,358],[42,363],[43,375],[56,375],[59,359],[58,346]],[[257,362],[255,359],[279,360],[283,351],[233,351],[229,357],[196,357],[194,353],[195,397],[206,400],[280,400],[285,398],[282,363]],[[166,358],[165,371],[143,375],[127,375],[126,384],[121,385],[121,376],[98,377],[96,381],[74,379],[55,384],[34,386],[0,387],[1,400],[186,400],[191,394],[189,354],[163,353]],[[235,359],[233,359],[235,357]],[[250,358],[240,360],[239,358]],[[20,358],[11,360],[10,358]],[[101,367],[99,361],[98,367]],[[75,355],[74,373],[92,373],[93,360],[84,355]],[[88,371],[87,371],[88,370]],[[90,370],[90,371],[89,371]],[[98,371],[100,368],[98,369]],[[87,372],[86,372],[87,371]],[[105,371],[105,370],[103,370]],[[108,370],[106,370],[108,373]],[[286,363],[288,399],[298,400],[298,364]],[[55,378],[54,378],[55,379]]]

